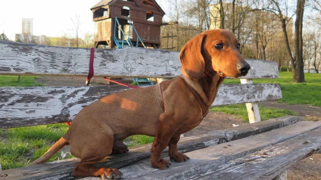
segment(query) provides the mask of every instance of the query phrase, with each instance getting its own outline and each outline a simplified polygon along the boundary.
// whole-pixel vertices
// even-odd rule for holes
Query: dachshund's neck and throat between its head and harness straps
[[[191,86],[203,103],[209,108],[215,100],[218,88],[222,84],[225,77],[219,76],[216,72],[213,76],[204,75],[202,78],[194,79],[187,75],[182,75],[187,84]]]

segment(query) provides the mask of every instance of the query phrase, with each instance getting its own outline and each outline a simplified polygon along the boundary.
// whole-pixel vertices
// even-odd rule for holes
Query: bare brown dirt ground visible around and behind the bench
[[[42,77],[37,79],[39,83],[46,86],[84,86],[86,78],[71,77]],[[106,86],[103,84],[91,84],[91,86]],[[278,102],[261,102],[265,107],[274,107],[292,110],[302,116],[305,120],[321,120],[321,108],[308,105],[289,105]],[[243,120],[234,115],[221,112],[210,112],[202,123],[192,131],[184,134],[185,136],[198,135],[207,131],[225,129],[235,125],[246,124]],[[321,180],[321,154],[307,157],[288,169],[288,180]]]

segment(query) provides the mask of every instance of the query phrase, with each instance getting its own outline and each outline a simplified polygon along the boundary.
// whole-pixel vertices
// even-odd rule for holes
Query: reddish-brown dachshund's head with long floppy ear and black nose
[[[189,40],[179,54],[182,72],[191,78],[218,73],[238,78],[246,76],[250,65],[239,52],[236,36],[223,29],[204,31]]]

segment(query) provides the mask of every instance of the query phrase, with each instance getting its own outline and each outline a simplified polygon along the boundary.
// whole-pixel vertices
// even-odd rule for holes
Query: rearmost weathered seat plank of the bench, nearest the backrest
[[[216,144],[237,140],[240,138],[256,135],[273,129],[282,128],[291,124],[297,123],[301,117],[288,116],[283,118],[270,119],[254,124],[241,125],[239,127],[231,127],[222,131],[213,131],[204,135],[195,137],[183,137],[178,142],[178,150],[180,152],[189,152],[205,147],[210,147]],[[122,155],[115,155],[109,157],[98,166],[113,166],[122,168],[127,165],[138,163],[141,161],[148,161],[150,158],[151,144],[140,145],[129,148],[129,152]],[[168,149],[165,149],[162,157],[167,157]],[[10,180],[38,180],[38,179],[75,179],[71,175],[72,169],[79,162],[79,159],[68,159],[54,161],[45,164],[27,166],[22,168],[15,168],[4,170],[2,173],[7,174],[6,179]]]

